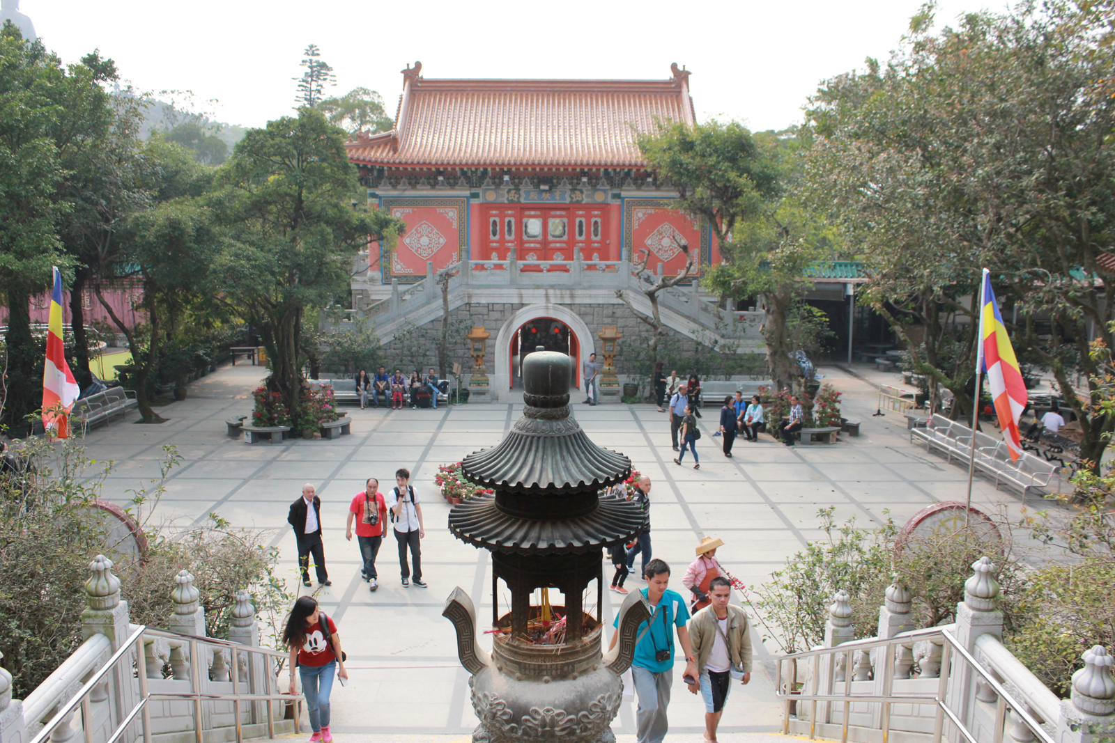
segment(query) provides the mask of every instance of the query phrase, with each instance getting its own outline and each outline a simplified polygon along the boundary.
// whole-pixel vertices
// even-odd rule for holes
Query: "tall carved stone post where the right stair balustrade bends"
[[[995,579],[996,567],[991,558],[981,557],[972,563],[972,575],[964,581],[964,600],[957,605],[956,637],[966,651],[976,655],[976,638],[991,634],[1002,639],[1002,613],[995,608],[999,595],[999,581]],[[976,672],[962,661],[941,668],[941,673],[952,675],[949,685],[949,708],[971,730]]]

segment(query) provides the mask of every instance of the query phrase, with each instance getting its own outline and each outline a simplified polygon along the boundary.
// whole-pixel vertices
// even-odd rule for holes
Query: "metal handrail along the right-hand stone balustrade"
[[[918,641],[932,641],[941,639],[944,646],[941,656],[941,671],[940,681],[937,685],[937,692],[932,695],[929,694],[910,694],[904,693],[901,695],[892,694],[892,687],[894,682],[894,652],[893,647],[895,645],[908,645],[912,642]],[[852,683],[853,683],[853,668],[852,668],[852,655],[856,651],[870,652],[871,648],[885,647],[886,653],[879,659],[883,663],[883,693],[882,694],[853,694]],[[853,641],[849,643],[843,643],[835,647],[817,647],[809,651],[802,651],[799,653],[792,653],[783,655],[777,659],[776,667],[776,686],[775,693],[779,700],[784,702],[783,705],[783,733],[789,733],[789,704],[791,702],[812,702],[813,708],[809,715],[809,740],[814,740],[816,736],[816,725],[817,725],[817,702],[828,702],[828,703],[843,703],[844,714],[842,721],[842,743],[847,743],[849,733],[849,715],[851,712],[851,705],[853,702],[873,702],[882,705],[882,741],[888,743],[890,740],[890,713],[892,704],[919,704],[925,705],[931,704],[937,707],[937,716],[933,723],[933,743],[940,743],[941,737],[944,732],[944,717],[956,725],[959,733],[968,741],[968,743],[981,743],[976,740],[971,731],[963,724],[960,717],[951,710],[948,705],[946,698],[948,692],[949,673],[950,673],[950,659],[952,653],[968,664],[983,681],[991,687],[991,690],[998,695],[997,706],[996,706],[996,723],[995,723],[995,742],[1002,743],[1004,726],[1006,723],[1006,713],[1009,708],[1041,743],[1054,743],[1053,737],[1041,727],[1041,725],[1026,711],[1026,705],[1017,701],[1004,686],[995,678],[993,674],[986,669],[979,661],[977,661],[971,653],[969,653],[960,644],[960,642],[953,637],[952,633],[948,632],[942,627],[929,627],[925,629],[915,629],[912,632],[902,633],[890,638],[878,638],[872,637],[867,639]],[[817,685],[820,684],[820,672],[821,672],[821,657],[831,656],[835,659],[835,656],[844,655],[844,693],[843,694],[817,694]],[[789,694],[784,690],[783,677],[782,677],[782,666],[786,661],[799,661],[802,658],[812,657],[813,663],[813,694]],[[876,668],[879,667],[879,659],[876,659]],[[828,673],[835,664],[830,665]],[[833,684],[835,685],[835,684]]]

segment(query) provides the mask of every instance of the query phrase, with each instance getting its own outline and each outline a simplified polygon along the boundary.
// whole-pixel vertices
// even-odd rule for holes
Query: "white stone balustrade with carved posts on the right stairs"
[[[964,583],[964,598],[957,606],[957,622],[940,627],[957,641],[957,645],[976,659],[1004,693],[1019,703],[1022,712],[1056,743],[1088,743],[1113,740],[1115,736],[1115,656],[1096,645],[1082,655],[1084,667],[1073,674],[1072,696],[1060,700],[1004,646],[1002,614],[996,608],[1000,587],[996,565],[989,557],[972,564],[972,575]],[[914,632],[910,616],[912,595],[895,579],[885,592],[885,603],[879,610],[878,634],[857,643],[901,639]],[[837,590],[825,623],[821,648],[835,648],[853,642],[852,607],[849,596]],[[871,649],[821,655],[817,663],[802,664],[798,682],[805,682],[803,694],[862,695],[873,697],[906,696],[932,698],[944,690],[949,710],[972,732],[976,740],[1001,740],[1028,743],[1034,731],[1022,715],[999,708],[999,695],[992,684],[967,661],[951,655],[942,667],[941,635],[924,638],[918,630],[910,643],[876,645]],[[891,657],[886,653],[892,653]],[[814,677],[814,674],[816,677]],[[851,674],[851,681],[849,680]],[[946,676],[946,678],[941,678]],[[816,690],[816,691],[813,691]],[[814,714],[815,718],[811,720]],[[844,726],[844,702],[798,703],[796,720],[791,720],[791,733],[840,739]],[[878,741],[884,724],[889,739],[895,743],[932,740],[938,710],[932,704],[893,703],[886,711],[878,702],[851,702],[847,705],[847,740]],[[953,731],[954,732],[954,731]],[[956,736],[946,735],[948,740]]]

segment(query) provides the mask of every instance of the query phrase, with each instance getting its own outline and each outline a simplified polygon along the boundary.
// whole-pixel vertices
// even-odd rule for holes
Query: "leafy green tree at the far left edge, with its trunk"
[[[31,336],[29,299],[71,261],[59,241],[67,165],[110,119],[101,84],[115,79],[96,53],[62,67],[42,42],[0,30],[0,295],[8,306],[2,422],[21,427],[41,400],[42,359]]]

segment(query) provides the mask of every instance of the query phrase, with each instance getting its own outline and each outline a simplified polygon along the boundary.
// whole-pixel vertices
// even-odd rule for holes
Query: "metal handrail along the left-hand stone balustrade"
[[[94,673],[87,682],[81,685],[81,688],[70,697],[69,702],[64,705],[58,706],[58,712],[39,730],[38,733],[29,741],[29,743],[46,743],[51,734],[58,729],[59,725],[66,723],[66,721],[72,715],[77,708],[81,708],[81,729],[85,737],[85,743],[93,743],[93,730],[91,730],[91,705],[89,695],[93,693],[94,688],[99,684],[104,683],[105,676],[113,671],[122,658],[130,656],[133,652],[136,653],[136,677],[139,686],[139,701],[128,711],[120,723],[116,726],[116,730],[104,743],[116,743],[124,735],[127,727],[135,722],[137,715],[140,716],[143,725],[143,740],[144,743],[152,743],[152,727],[151,727],[151,712],[148,710],[147,703],[152,700],[163,701],[163,700],[193,700],[194,702],[194,733],[197,743],[203,743],[203,729],[202,729],[202,702],[203,701],[225,701],[233,703],[233,711],[235,717],[235,729],[236,729],[236,743],[242,743],[243,731],[241,729],[241,710],[240,705],[242,702],[266,702],[268,711],[268,736],[274,739],[274,702],[278,700],[282,701],[302,701],[304,696],[302,694],[280,694],[278,688],[275,688],[274,694],[241,694],[240,693],[240,665],[237,662],[237,655],[240,653],[248,654],[260,654],[266,659],[266,668],[264,669],[264,678],[266,680],[268,691],[270,691],[273,685],[278,686],[277,680],[271,673],[272,657],[285,658],[287,654],[281,653],[269,647],[258,647],[250,645],[241,645],[240,643],[233,643],[225,639],[219,639],[216,637],[200,637],[196,635],[186,635],[182,633],[171,632],[168,629],[161,629],[157,627],[148,627],[146,625],[130,625],[133,630],[128,638],[120,645],[119,649],[113,653],[112,657],[105,662],[101,667]],[[165,639],[180,641],[188,643],[190,645],[190,682],[192,690],[190,693],[157,693],[152,694],[147,687],[147,658],[144,653],[144,641],[148,637],[162,637]],[[232,680],[232,694],[214,694],[205,693],[201,691],[201,667],[198,652],[198,646],[201,644],[215,645],[217,647],[227,648],[231,654],[231,668],[230,678]],[[128,677],[130,677],[130,668],[128,669]],[[295,706],[294,715],[295,727],[298,725],[298,713]]]

